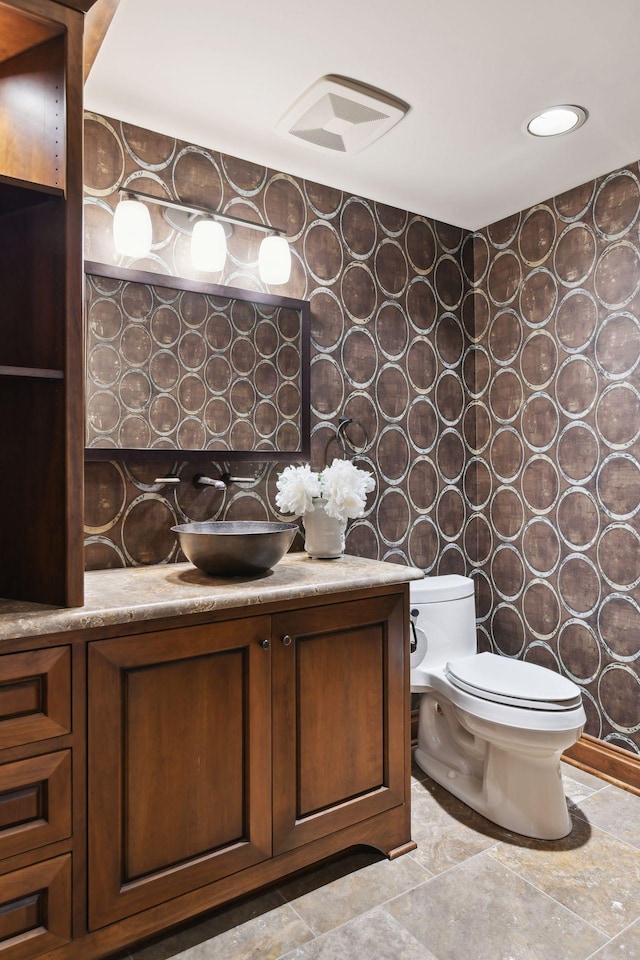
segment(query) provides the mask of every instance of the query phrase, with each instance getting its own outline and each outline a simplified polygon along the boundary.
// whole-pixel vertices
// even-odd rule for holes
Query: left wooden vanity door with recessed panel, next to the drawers
[[[269,628],[89,645],[91,929],[270,857]]]

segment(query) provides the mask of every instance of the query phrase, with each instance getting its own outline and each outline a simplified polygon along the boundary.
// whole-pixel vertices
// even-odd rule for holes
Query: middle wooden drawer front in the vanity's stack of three
[[[0,766],[0,859],[71,836],[71,751]]]

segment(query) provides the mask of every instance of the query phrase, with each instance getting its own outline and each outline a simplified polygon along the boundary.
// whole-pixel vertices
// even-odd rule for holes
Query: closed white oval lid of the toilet
[[[478,653],[448,663],[449,681],[483,700],[530,710],[571,710],[582,703],[571,680],[546,667],[511,660],[494,653]]]

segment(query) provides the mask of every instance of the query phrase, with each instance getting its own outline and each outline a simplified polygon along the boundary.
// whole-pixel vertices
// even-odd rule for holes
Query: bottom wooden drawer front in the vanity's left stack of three
[[[70,939],[70,855],[0,877],[0,960],[35,960]]]

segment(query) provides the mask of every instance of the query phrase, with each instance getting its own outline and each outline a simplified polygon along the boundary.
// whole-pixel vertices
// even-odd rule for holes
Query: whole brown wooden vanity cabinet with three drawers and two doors
[[[259,597],[214,584],[154,620],[176,575],[105,571],[121,619],[5,639],[0,960],[112,957],[350,848],[414,848],[408,584],[345,573],[374,582],[322,592],[293,557]],[[125,611],[135,583],[155,611]]]

